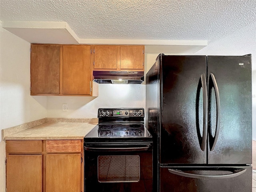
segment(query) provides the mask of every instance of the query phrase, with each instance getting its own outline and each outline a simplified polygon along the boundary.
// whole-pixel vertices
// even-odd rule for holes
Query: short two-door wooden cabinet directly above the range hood
[[[94,70],[144,71],[144,46],[94,45]]]

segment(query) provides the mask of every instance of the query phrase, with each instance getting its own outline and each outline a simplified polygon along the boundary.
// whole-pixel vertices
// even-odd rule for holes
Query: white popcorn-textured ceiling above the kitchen
[[[256,22],[256,0],[0,0],[2,21],[61,21],[81,39],[208,40]]]

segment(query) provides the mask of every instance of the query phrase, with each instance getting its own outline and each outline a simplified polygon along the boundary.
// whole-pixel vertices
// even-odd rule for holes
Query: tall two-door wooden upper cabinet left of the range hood
[[[98,96],[90,45],[31,44],[31,95]]]

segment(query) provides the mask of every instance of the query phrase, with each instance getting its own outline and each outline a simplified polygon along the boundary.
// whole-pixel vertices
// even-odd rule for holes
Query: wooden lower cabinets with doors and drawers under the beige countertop
[[[83,192],[83,140],[7,140],[7,192]]]

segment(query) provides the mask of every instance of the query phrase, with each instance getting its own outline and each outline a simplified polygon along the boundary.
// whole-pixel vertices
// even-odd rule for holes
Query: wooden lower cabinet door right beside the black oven
[[[46,192],[81,192],[81,154],[46,155]]]

